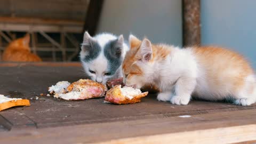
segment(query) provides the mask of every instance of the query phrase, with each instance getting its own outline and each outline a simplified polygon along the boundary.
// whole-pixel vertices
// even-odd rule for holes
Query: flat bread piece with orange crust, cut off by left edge
[[[11,107],[30,106],[29,100],[25,99],[7,98],[2,94],[0,94],[0,99],[0,111]]]

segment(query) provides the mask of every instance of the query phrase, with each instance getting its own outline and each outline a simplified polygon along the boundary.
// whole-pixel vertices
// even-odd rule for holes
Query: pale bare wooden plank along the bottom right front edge
[[[217,129],[196,130],[189,132],[158,134],[144,137],[126,138],[111,140],[100,143],[117,144],[117,143],[233,143],[237,141],[256,140],[256,124],[245,126],[232,126]],[[199,137],[199,138],[198,138]],[[175,141],[173,141],[175,140]]]

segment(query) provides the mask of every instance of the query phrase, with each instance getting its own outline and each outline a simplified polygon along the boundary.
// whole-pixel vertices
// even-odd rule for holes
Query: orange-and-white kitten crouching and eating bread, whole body
[[[236,105],[256,101],[256,81],[249,63],[239,54],[220,47],[151,44],[130,35],[130,51],[123,62],[126,85],[156,85],[160,101],[187,105],[191,99],[234,99]]]

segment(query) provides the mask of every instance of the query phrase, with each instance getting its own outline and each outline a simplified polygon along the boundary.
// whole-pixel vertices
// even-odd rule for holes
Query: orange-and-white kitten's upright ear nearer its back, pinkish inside
[[[151,42],[145,38],[143,39],[141,46],[140,46],[140,55],[141,55],[141,60],[144,62],[148,62],[153,58],[153,50],[152,50],[152,45]]]

